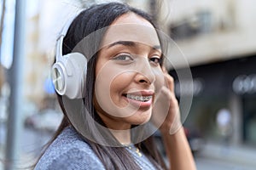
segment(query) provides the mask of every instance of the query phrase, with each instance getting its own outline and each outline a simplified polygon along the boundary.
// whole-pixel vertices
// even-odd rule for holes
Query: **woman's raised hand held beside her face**
[[[173,78],[163,68],[166,86],[162,87],[153,108],[152,121],[161,133],[174,134],[182,127],[180,111],[174,94]]]

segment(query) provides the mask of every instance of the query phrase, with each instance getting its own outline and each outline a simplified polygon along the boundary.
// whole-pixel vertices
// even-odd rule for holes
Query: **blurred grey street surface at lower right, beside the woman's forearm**
[[[195,156],[199,170],[253,170],[256,167],[256,149],[226,147],[206,144],[201,153]]]

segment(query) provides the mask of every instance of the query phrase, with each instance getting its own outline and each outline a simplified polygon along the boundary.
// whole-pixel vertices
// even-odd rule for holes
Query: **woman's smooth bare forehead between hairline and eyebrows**
[[[154,26],[134,13],[123,14],[108,26],[102,39],[102,47],[119,41],[142,42],[151,47],[160,45]]]

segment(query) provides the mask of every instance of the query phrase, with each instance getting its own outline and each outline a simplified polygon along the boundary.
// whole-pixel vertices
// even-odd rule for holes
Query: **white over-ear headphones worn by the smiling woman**
[[[76,15],[77,16],[77,15]],[[84,97],[87,59],[81,53],[62,55],[62,43],[73,20],[69,20],[57,38],[55,64],[51,68],[51,79],[55,90],[69,99]]]

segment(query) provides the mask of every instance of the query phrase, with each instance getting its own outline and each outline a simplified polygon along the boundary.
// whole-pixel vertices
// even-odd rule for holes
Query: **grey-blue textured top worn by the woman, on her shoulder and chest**
[[[155,169],[154,165],[148,161],[144,155],[139,156],[135,151],[136,148],[131,146],[127,150],[135,158],[137,164],[142,169]],[[36,170],[85,170],[85,169],[105,169],[100,159],[95,152],[90,148],[90,145],[84,142],[73,127],[67,127],[49,145],[44,155],[38,161],[35,167]]]

